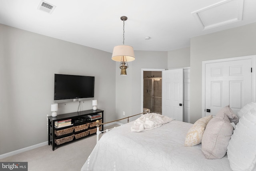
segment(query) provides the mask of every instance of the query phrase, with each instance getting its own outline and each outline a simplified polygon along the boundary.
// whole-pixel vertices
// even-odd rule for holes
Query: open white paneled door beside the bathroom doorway
[[[162,115],[183,121],[183,69],[162,71]]]

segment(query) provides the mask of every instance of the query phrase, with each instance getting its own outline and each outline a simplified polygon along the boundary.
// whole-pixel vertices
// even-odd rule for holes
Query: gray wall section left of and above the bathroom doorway
[[[116,62],[116,119],[142,112],[141,69],[167,69],[167,52],[135,51],[135,60],[128,62],[127,76],[120,76],[119,62]],[[123,115],[125,111],[126,115]],[[133,117],[130,121],[138,117]],[[127,123],[126,120],[120,121]]]

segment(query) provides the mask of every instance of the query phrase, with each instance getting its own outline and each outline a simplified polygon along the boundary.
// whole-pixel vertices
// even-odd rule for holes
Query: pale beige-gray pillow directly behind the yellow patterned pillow
[[[233,126],[227,115],[217,113],[206,125],[202,137],[202,152],[206,159],[221,159],[227,152],[228,142],[233,133]]]

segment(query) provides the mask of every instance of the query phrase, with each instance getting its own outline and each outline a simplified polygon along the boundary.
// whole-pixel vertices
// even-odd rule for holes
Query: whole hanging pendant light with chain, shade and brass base
[[[127,20],[126,16],[120,18],[123,23]],[[123,24],[124,26],[124,24]],[[115,46],[112,53],[112,60],[120,62],[121,76],[126,76],[126,69],[129,67],[127,62],[135,60],[132,46],[124,45],[124,27],[123,27],[123,45]]]

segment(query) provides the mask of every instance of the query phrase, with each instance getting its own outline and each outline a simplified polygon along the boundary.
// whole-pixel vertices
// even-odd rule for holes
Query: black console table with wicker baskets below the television
[[[88,115],[100,115],[94,119],[89,119]],[[56,117],[48,117],[48,145],[52,145],[52,151],[55,147],[64,145],[93,135],[96,133],[96,120],[100,120],[103,123],[104,111],[86,110],[74,113],[66,113],[57,115]],[[72,125],[64,127],[56,127],[54,124],[60,121],[70,121]],[[103,125],[100,127],[103,130]]]

